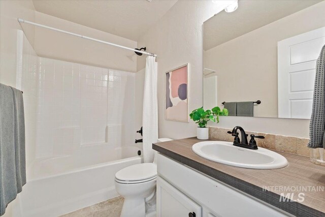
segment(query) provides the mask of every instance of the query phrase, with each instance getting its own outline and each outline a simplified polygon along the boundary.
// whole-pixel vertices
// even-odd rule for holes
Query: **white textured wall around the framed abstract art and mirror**
[[[196,125],[193,122],[165,120],[165,72],[189,63],[189,110],[202,106],[202,25],[205,20],[222,10],[223,4],[229,4],[229,1],[219,1],[218,4],[213,4],[211,1],[178,1],[138,41],[138,46],[146,46],[149,52],[158,55],[159,137],[177,139],[196,136]],[[138,58],[137,71],[144,67],[145,59]],[[237,125],[255,132],[299,137],[309,135],[309,120],[224,117],[218,124],[223,128],[233,128]]]

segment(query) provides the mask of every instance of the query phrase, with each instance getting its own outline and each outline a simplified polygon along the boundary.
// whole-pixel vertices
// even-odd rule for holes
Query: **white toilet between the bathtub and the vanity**
[[[161,138],[157,142],[171,141],[172,139]],[[146,204],[155,202],[156,191],[156,151],[153,163],[136,164],[121,169],[115,174],[115,189],[124,198],[121,217],[144,217],[146,216]],[[148,207],[152,207],[149,204]],[[155,210],[147,212],[147,217]]]

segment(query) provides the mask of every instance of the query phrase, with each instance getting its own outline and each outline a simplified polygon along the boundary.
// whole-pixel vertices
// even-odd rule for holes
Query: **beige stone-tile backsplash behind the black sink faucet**
[[[227,133],[228,131],[232,131],[232,129],[209,127],[209,138],[233,142],[234,137]],[[282,136],[250,131],[245,132],[246,134],[248,134],[248,141],[250,139],[250,134],[265,137],[265,139],[255,139],[258,147],[298,154],[300,156],[305,157],[310,156],[310,148],[307,147],[309,139],[307,138]]]

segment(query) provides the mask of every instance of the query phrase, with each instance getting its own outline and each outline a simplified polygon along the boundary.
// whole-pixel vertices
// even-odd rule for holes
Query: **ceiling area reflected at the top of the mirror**
[[[296,13],[321,1],[239,0],[232,13],[222,11],[204,22],[204,50]]]

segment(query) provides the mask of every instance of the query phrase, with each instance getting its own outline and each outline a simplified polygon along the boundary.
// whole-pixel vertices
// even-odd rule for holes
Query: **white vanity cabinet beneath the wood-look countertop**
[[[157,154],[157,216],[290,216],[223,182]]]

